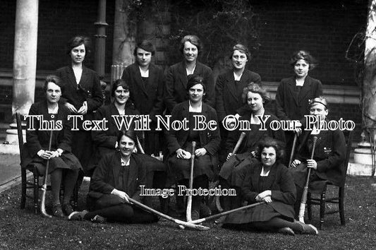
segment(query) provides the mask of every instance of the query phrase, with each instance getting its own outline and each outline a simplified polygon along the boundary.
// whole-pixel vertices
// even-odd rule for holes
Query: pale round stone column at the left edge
[[[28,114],[34,102],[37,70],[38,0],[17,0],[13,61],[12,114]],[[18,153],[16,124],[6,131],[1,153]]]

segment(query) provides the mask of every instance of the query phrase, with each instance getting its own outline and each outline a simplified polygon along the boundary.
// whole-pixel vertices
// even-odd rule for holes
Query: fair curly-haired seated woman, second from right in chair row
[[[269,102],[269,100],[269,94],[267,91],[256,83],[250,83],[243,90],[243,102],[246,103],[245,106],[247,107],[245,109],[248,109],[248,112],[243,114],[239,120],[248,121],[250,127],[244,129],[239,127],[234,131],[230,131],[229,137],[226,140],[226,152],[228,153],[226,162],[224,162],[224,165],[222,165],[221,171],[219,172],[219,184],[225,188],[232,186],[237,189],[237,194],[240,193],[241,182],[243,179],[238,178],[241,177],[239,174],[238,177],[236,177],[234,171],[243,172],[244,169],[250,165],[250,161],[252,161],[252,158],[256,153],[259,141],[263,138],[270,137],[284,143],[284,131],[281,129],[274,131],[270,128],[270,123],[276,120],[279,121],[279,119],[274,116],[274,114],[265,110],[264,105]],[[265,121],[267,116],[269,116],[269,118],[265,122],[265,130],[260,130],[260,118]],[[246,134],[245,138],[243,139],[238,152],[233,156],[231,152],[234,150],[242,131]],[[241,196],[222,197],[222,200],[224,210],[237,208],[241,204]]]

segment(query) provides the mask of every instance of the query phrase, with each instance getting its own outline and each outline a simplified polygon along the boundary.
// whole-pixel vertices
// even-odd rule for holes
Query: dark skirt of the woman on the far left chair
[[[47,160],[42,159],[39,156],[36,156],[32,159],[32,163],[37,166],[40,174],[46,172]],[[82,169],[80,162],[77,157],[70,152],[64,152],[60,157],[54,157],[49,159],[49,169],[48,173],[51,174],[55,169]]]

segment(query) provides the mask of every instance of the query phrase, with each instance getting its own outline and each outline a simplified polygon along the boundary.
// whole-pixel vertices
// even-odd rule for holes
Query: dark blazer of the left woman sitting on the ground
[[[121,167],[119,151],[105,155],[92,175],[88,196],[100,198],[103,194],[111,194],[118,184]],[[123,185],[121,191],[127,190],[128,196],[140,201],[140,185],[146,185],[146,171],[143,161],[137,154],[132,153],[131,155],[128,181]]]

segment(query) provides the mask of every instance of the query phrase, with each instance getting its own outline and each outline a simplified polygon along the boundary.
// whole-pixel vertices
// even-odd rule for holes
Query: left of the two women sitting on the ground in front
[[[93,222],[150,223],[158,218],[129,203],[131,197],[141,201],[140,186],[146,184],[144,161],[135,149],[137,137],[134,131],[120,131],[116,139],[119,150],[104,155],[95,169],[87,194],[90,212],[74,212],[68,220],[92,220]]]

